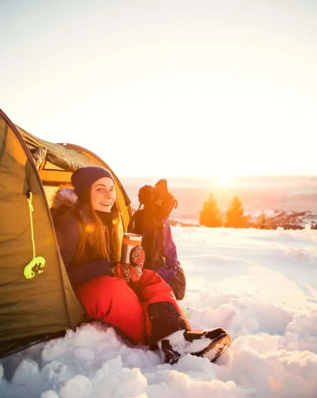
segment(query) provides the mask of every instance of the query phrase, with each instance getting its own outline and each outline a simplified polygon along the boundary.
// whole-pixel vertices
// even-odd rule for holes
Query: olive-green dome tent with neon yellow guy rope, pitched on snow
[[[89,150],[40,140],[0,109],[0,357],[90,320],[68,281],[50,213],[55,190],[83,165],[113,173]],[[126,231],[130,200],[113,176]]]

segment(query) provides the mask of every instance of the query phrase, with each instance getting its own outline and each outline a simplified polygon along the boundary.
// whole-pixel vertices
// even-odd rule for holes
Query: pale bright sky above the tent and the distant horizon
[[[119,177],[316,175],[316,21],[313,0],[1,0],[0,107]]]

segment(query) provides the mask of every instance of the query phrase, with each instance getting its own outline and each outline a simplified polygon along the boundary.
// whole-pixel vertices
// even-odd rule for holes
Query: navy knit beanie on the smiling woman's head
[[[103,177],[111,178],[114,182],[112,174],[105,167],[86,166],[75,170],[70,180],[74,186],[75,194],[80,198],[97,180]]]

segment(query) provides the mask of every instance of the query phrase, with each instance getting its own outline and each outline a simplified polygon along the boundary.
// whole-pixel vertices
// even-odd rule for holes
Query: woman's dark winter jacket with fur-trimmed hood
[[[89,244],[83,257],[75,262],[81,229],[80,218],[89,222],[89,212],[84,206],[78,206],[76,212],[70,210],[76,200],[76,194],[71,188],[62,188],[53,198],[51,208],[60,254],[73,288],[98,276],[113,276],[111,268],[115,265],[105,258],[96,258]],[[104,220],[103,222],[105,223]]]

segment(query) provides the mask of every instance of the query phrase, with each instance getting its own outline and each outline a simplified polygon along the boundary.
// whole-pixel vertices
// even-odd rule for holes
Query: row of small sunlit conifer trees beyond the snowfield
[[[261,212],[256,223],[250,225],[248,216],[244,215],[241,200],[235,196],[222,215],[218,203],[212,194],[204,201],[199,217],[200,225],[205,227],[248,228],[250,226],[270,229],[264,211]]]

